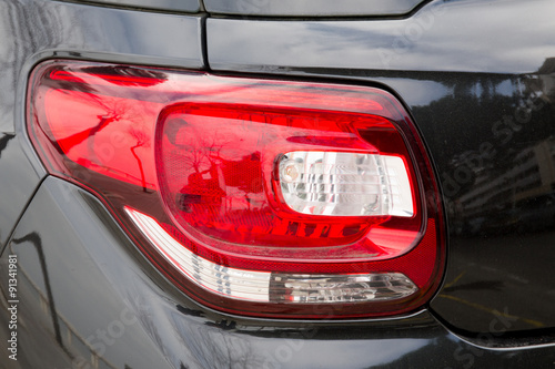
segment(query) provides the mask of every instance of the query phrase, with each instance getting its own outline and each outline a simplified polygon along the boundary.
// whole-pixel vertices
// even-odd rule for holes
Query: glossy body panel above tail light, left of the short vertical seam
[[[39,58],[199,69],[203,66],[200,23],[199,17],[57,1],[0,2],[0,132],[13,132],[16,98],[22,104],[26,75]]]

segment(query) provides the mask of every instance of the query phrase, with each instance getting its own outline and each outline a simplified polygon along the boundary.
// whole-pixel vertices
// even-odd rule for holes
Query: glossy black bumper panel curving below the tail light
[[[473,347],[425,310],[352,322],[209,311],[152,273],[98,199],[53,177],[16,229],[0,264],[4,275],[8,255],[18,257],[18,319],[24,321],[20,360],[7,362],[10,369],[85,367],[94,350],[102,353],[101,367],[157,369],[542,367],[555,360],[548,347]],[[7,309],[0,314],[6,321]],[[4,328],[0,332],[4,340]]]

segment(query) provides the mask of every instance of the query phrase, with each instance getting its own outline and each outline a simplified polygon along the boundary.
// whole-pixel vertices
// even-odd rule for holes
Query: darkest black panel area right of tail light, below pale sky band
[[[490,332],[500,315],[509,319],[501,334],[555,326],[552,61],[536,74],[465,75],[413,107],[451,226],[446,285],[432,306],[466,331]]]

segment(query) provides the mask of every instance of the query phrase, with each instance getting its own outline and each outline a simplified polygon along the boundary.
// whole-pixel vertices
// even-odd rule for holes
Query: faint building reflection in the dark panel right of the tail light
[[[519,201],[555,191],[555,137],[522,150],[513,168],[502,176],[483,171],[473,189],[461,196],[464,216],[486,208],[507,209]]]

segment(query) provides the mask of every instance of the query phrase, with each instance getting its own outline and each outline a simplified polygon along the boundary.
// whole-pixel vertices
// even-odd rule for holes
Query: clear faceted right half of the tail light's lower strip
[[[272,297],[300,304],[360,303],[403,298],[418,288],[401,273],[272,275]]]

